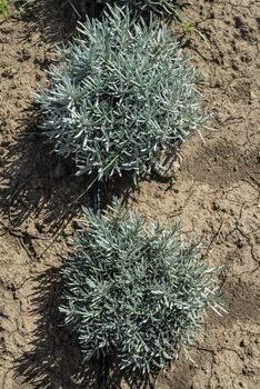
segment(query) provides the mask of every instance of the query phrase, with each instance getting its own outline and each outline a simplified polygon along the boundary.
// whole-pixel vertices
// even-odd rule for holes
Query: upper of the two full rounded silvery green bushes
[[[42,130],[79,174],[150,172],[204,121],[194,70],[167,26],[132,21],[128,9],[110,8],[78,30],[60,50],[66,64],[49,72],[50,88],[36,98]]]

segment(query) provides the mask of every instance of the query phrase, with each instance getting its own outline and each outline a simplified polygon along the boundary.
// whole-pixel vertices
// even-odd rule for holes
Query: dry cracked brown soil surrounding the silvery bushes
[[[172,363],[158,389],[260,388],[259,9],[252,0],[198,0],[182,9],[192,28],[172,29],[202,76],[214,129],[181,148],[173,184],[154,178],[124,194],[150,220],[181,221],[184,235],[201,235],[204,260],[223,266],[229,313],[208,312],[194,362]],[[90,388],[94,369],[81,365],[58,312],[61,256],[80,213],[80,205],[69,205],[89,182],[50,153],[31,106],[68,23],[53,1],[13,12],[0,17],[0,388]]]

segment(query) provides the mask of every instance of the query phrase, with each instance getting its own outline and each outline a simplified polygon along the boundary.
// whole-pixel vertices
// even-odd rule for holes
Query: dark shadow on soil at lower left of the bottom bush
[[[36,389],[97,388],[97,363],[82,363],[77,338],[61,325],[59,269],[50,268],[34,281],[31,315],[38,319],[31,350],[16,361],[16,376]]]

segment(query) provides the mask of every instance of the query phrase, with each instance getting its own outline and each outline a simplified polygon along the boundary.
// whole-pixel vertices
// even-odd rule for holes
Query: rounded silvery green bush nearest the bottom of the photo
[[[182,241],[178,226],[149,226],[116,201],[102,217],[84,210],[74,247],[60,309],[87,360],[104,348],[121,369],[164,367],[201,330],[204,308],[221,309],[217,269],[201,261],[199,241]]]

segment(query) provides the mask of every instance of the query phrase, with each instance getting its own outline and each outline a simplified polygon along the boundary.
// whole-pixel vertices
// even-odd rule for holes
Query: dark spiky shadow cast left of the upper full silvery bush
[[[53,236],[82,205],[89,206],[91,177],[74,176],[72,162],[46,143],[37,130],[38,121],[38,113],[30,108],[17,141],[7,144],[0,198],[8,229],[21,228],[40,238],[41,233]]]

